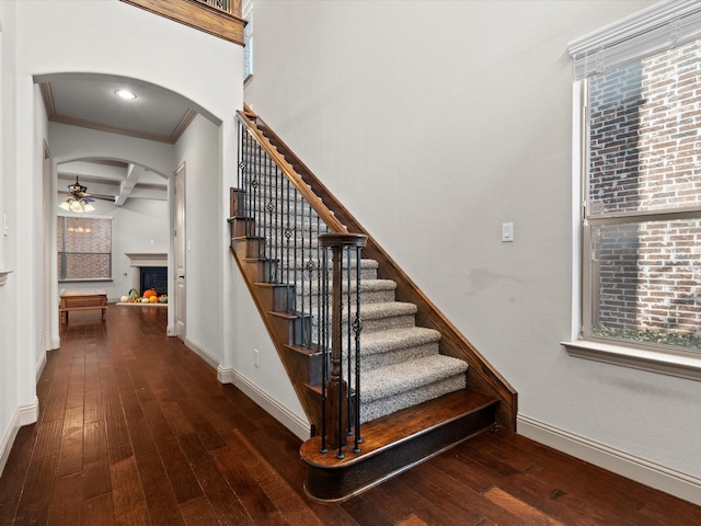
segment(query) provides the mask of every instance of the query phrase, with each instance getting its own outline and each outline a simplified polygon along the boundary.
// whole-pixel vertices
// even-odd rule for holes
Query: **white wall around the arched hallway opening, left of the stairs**
[[[228,188],[235,181],[233,115],[242,105],[242,48],[119,0],[0,2],[0,211],[8,215],[10,226],[0,244],[0,264],[14,270],[0,288],[0,466],[18,427],[38,414],[35,381],[41,367],[37,358],[44,352],[41,331],[48,324],[55,333],[51,335],[57,334],[58,316],[47,321],[44,312],[47,300],[55,304],[57,290],[46,290],[43,279],[48,252],[44,236],[53,219],[45,217],[42,204],[45,193],[56,190],[43,184],[43,141],[48,141],[56,156],[54,167],[84,157],[141,159],[141,165],[171,176],[179,161],[172,146],[163,161],[160,144],[139,144],[117,136],[106,140],[99,132],[72,134],[54,125],[47,127],[34,76],[61,72],[115,75],[150,82],[192,100],[217,122],[216,142],[208,150],[217,157],[216,170],[203,174],[207,187],[215,191],[216,203],[199,226],[216,232],[219,241],[215,258],[219,263],[214,266],[218,274],[210,279],[221,286],[212,290],[206,304],[188,309],[207,310],[214,304],[222,316],[230,315],[235,299],[227,294],[231,276],[222,275],[231,255],[221,248],[228,238],[223,220]],[[133,150],[117,157],[116,149],[126,147],[128,140],[133,140]],[[172,217],[172,210],[168,214]],[[18,320],[23,321],[19,324]],[[207,328],[198,327],[194,318],[187,330],[205,333]],[[219,334],[207,343],[215,347],[210,350],[214,355],[221,356],[221,334],[228,342],[232,334],[228,328],[220,328]]]

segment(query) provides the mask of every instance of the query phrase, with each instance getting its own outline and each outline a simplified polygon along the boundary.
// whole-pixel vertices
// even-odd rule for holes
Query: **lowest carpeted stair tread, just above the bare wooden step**
[[[368,370],[360,375],[360,400],[371,402],[393,397],[467,370],[467,362],[443,354]]]

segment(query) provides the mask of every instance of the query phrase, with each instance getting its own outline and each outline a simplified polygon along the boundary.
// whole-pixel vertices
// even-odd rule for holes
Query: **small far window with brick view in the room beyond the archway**
[[[112,219],[58,216],[59,281],[112,278]]]

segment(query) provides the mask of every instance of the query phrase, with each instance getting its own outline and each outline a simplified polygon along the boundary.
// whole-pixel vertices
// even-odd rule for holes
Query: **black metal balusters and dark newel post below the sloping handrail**
[[[244,218],[246,237],[257,241],[264,278],[286,287],[286,302],[279,307],[299,320],[294,343],[321,354],[322,450],[343,456],[347,437],[355,434],[353,450],[358,451],[360,252],[366,237],[337,233],[337,226],[330,233],[297,182],[245,125],[239,134],[235,217]]]

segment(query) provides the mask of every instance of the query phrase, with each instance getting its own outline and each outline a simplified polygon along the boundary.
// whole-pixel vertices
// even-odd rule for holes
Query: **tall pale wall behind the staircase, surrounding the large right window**
[[[559,343],[572,327],[567,44],[652,3],[256,2],[245,100],[514,385],[524,428],[699,494],[699,384]]]

